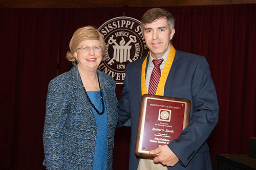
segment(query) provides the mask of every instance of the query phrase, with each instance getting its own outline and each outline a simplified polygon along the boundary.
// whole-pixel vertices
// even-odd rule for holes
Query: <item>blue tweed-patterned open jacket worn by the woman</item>
[[[107,167],[112,169],[118,113],[115,81],[98,71],[108,113]],[[47,169],[92,169],[96,120],[84,93],[77,65],[50,81],[43,132]]]

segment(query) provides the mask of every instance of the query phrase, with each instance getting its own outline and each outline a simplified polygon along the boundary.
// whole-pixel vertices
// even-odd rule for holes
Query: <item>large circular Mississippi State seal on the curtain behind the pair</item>
[[[99,70],[123,84],[126,65],[147,54],[147,47],[140,29],[140,21],[131,17],[116,17],[98,29],[106,43],[106,60]]]

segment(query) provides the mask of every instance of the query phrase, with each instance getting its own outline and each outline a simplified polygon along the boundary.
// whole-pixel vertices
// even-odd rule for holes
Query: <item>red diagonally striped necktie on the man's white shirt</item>
[[[148,94],[156,94],[157,86],[161,77],[160,65],[162,64],[163,59],[153,60],[154,68],[150,77],[150,84],[148,85]]]

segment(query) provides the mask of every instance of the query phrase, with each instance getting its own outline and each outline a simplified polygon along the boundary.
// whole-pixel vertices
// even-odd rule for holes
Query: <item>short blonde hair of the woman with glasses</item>
[[[86,41],[86,40],[99,40],[100,45],[102,46],[102,60],[105,59],[104,54],[106,50],[106,44],[105,44],[103,35],[96,28],[92,26],[86,26],[86,27],[77,29],[70,40],[70,43],[69,43],[70,51],[67,52],[66,58],[70,62],[72,62],[73,65],[75,65],[76,63],[75,52],[79,47],[78,45],[80,44],[80,42]]]

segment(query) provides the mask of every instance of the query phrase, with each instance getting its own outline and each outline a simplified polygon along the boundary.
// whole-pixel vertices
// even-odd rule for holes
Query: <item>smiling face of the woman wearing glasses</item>
[[[100,41],[86,40],[80,42],[78,49],[75,52],[75,57],[79,63],[78,67],[81,67],[82,69],[97,70],[102,60],[102,47]]]

